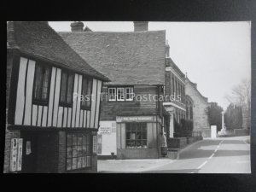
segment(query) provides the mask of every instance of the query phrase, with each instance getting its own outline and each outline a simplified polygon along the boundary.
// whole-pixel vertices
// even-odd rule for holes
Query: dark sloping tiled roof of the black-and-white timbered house
[[[10,49],[19,49],[21,53],[52,61],[96,79],[109,80],[71,49],[48,22],[9,22],[7,40]]]

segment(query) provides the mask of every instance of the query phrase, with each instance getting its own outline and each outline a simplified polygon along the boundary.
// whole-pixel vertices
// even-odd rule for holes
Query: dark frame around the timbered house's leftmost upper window
[[[30,59],[28,59],[30,60]],[[37,81],[37,78],[38,78],[38,67],[42,67],[44,68],[44,70],[46,68],[49,69],[49,79],[48,79],[48,89],[47,89],[47,98],[46,99],[42,99],[42,93],[43,93],[43,84],[44,84],[44,81],[42,80],[41,82],[41,87],[40,87],[40,90],[41,90],[41,98],[38,99],[38,98],[35,98],[35,90],[36,90],[36,81]],[[38,105],[43,105],[43,106],[48,106],[49,104],[49,90],[50,90],[50,82],[51,82],[51,78],[52,78],[52,67],[45,63],[44,61],[36,61],[36,64],[35,64],[35,71],[34,71],[34,79],[33,79],[33,88],[32,88],[32,104],[38,104]],[[43,74],[43,73],[42,73]],[[44,76],[44,75],[43,75]]]

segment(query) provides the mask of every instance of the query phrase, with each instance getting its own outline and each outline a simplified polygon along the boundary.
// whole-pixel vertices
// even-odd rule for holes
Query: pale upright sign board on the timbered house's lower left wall
[[[22,138],[11,139],[10,171],[21,171],[22,165]]]

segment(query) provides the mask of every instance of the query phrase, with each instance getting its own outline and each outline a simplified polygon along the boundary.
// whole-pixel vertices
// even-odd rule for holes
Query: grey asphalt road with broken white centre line
[[[177,160],[147,172],[160,173],[250,173],[247,137],[204,139],[183,149]]]

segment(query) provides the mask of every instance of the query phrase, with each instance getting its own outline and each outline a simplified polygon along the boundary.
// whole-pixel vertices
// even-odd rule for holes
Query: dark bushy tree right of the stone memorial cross
[[[224,113],[224,122],[227,127],[227,130],[241,129],[241,106],[236,106],[235,104],[230,103],[229,107]]]

